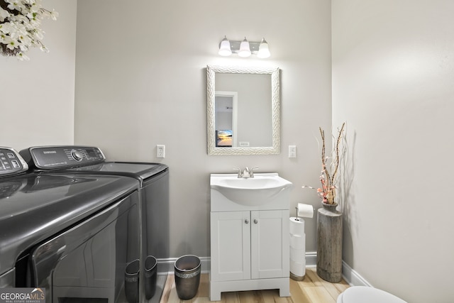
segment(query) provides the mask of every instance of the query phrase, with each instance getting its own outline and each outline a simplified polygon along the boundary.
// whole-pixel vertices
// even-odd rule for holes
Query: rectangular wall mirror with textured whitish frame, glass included
[[[280,149],[279,68],[206,67],[209,155]]]

